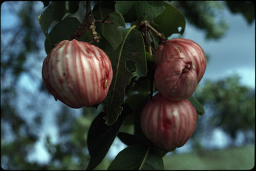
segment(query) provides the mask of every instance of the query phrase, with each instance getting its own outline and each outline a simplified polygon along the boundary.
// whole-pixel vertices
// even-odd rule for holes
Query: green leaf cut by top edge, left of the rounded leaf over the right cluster
[[[160,15],[164,10],[161,1],[134,1],[137,21],[151,20]]]

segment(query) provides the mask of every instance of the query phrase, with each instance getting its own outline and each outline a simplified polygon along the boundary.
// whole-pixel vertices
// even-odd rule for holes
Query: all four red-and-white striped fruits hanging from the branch
[[[171,150],[193,134],[197,112],[187,100],[206,68],[203,49],[189,39],[171,39],[155,51],[157,93],[144,106],[141,128],[155,145]],[[107,96],[113,78],[107,54],[94,45],[61,41],[43,61],[43,83],[71,108],[93,106]]]

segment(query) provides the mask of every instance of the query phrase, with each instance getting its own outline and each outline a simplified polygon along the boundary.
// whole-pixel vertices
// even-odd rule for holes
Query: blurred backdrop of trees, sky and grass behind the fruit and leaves
[[[194,96],[203,104],[192,138],[163,159],[165,170],[250,169],[255,164],[255,5],[250,1],[172,1],[186,18],[182,37],[208,63]],[[41,1],[1,4],[1,168],[85,170],[87,131],[99,111],[55,101],[41,79],[45,36]],[[65,28],[63,28],[65,29]],[[172,35],[169,39],[181,37]],[[130,129],[124,124],[121,130]],[[117,138],[96,168],[125,148]]]

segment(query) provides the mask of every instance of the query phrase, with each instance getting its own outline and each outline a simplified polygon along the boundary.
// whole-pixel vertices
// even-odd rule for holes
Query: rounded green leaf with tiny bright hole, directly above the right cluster
[[[173,33],[180,33],[185,31],[185,17],[182,13],[168,3],[163,3],[165,11],[154,19],[157,30],[164,33],[165,37],[171,36]]]

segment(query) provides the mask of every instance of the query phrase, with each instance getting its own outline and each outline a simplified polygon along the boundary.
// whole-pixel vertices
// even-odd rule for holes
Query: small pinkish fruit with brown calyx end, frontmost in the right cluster
[[[171,58],[155,70],[155,87],[169,100],[184,100],[197,88],[197,73],[191,61]]]

